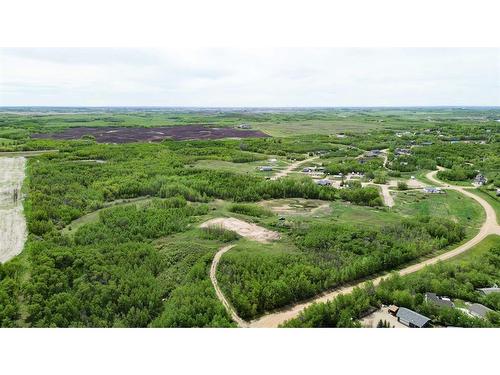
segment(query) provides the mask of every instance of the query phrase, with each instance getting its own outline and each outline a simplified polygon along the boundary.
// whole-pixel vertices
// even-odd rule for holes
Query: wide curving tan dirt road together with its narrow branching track
[[[442,168],[439,168],[439,169],[441,170]],[[495,210],[493,209],[493,207],[486,200],[484,200],[483,198],[467,191],[467,189],[464,187],[454,186],[454,185],[444,185],[442,182],[440,182],[439,180],[436,179],[435,176],[436,176],[437,172],[438,171],[429,172],[426,175],[426,177],[430,181],[435,183],[436,185],[442,186],[444,189],[458,191],[458,192],[466,195],[467,197],[472,198],[475,201],[477,201],[484,208],[484,211],[486,213],[485,221],[484,221],[483,225],[481,226],[479,233],[476,234],[476,236],[474,236],[472,239],[470,239],[466,243],[464,243],[464,244],[462,244],[462,245],[456,247],[455,249],[450,250],[446,253],[437,255],[437,256],[430,258],[430,259],[426,259],[420,263],[405,267],[405,268],[397,271],[400,275],[407,275],[407,274],[419,271],[422,268],[424,268],[425,266],[432,265],[432,264],[435,264],[439,261],[447,260],[447,259],[455,257],[461,253],[464,253],[467,250],[474,247],[475,245],[477,245],[486,236],[488,236],[490,234],[500,235],[500,226],[497,224],[496,213],[495,213]],[[345,285],[345,286],[337,288],[335,290],[323,293],[317,297],[314,297],[311,300],[308,300],[308,301],[305,301],[305,302],[302,302],[302,303],[299,303],[299,304],[296,304],[293,306],[289,306],[287,308],[284,308],[284,309],[269,313],[267,315],[264,315],[258,319],[252,320],[251,322],[247,322],[238,316],[236,311],[231,307],[229,302],[224,297],[223,293],[221,292],[221,290],[217,284],[217,279],[216,279],[217,265],[218,265],[222,255],[225,252],[227,252],[228,250],[230,250],[231,247],[232,247],[231,245],[225,246],[225,247],[221,248],[219,250],[219,252],[217,252],[217,254],[215,255],[214,260],[212,262],[212,267],[210,269],[210,279],[212,280],[212,283],[214,284],[215,291],[217,293],[219,300],[226,307],[226,309],[228,310],[230,315],[233,317],[233,320],[238,324],[239,327],[242,327],[242,328],[247,328],[247,327],[250,327],[250,328],[275,328],[275,327],[278,327],[280,324],[286,322],[287,320],[290,320],[292,318],[297,317],[305,308],[311,306],[313,303],[327,302],[327,301],[334,299],[339,294],[350,293],[353,291],[354,288],[361,287],[366,281],[371,281],[374,285],[377,285],[380,283],[380,281],[382,281],[386,277],[386,275],[384,275],[384,276],[376,277],[376,278],[371,279],[371,280],[366,280],[363,282],[355,282],[355,283],[350,284],[350,285]]]

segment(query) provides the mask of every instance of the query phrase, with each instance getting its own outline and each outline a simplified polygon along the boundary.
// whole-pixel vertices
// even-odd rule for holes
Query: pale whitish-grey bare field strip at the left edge
[[[0,157],[0,263],[18,255],[26,240],[21,186],[24,157]]]

